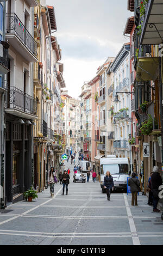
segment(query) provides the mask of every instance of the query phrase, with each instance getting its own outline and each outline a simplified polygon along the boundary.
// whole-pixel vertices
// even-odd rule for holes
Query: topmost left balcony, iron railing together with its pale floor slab
[[[7,13],[6,38],[29,62],[37,61],[37,42],[15,13]],[[16,39],[16,40],[15,40]],[[24,48],[20,45],[20,42]]]

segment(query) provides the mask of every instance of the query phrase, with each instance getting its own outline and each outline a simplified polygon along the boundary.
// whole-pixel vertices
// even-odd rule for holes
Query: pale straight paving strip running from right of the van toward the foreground
[[[123,197],[124,197],[124,202],[126,204],[126,210],[127,210],[128,221],[129,221],[129,225],[130,225],[130,231],[131,231],[131,235],[132,235],[132,239],[133,239],[133,245],[141,245],[140,240],[139,240],[139,236],[138,236],[137,231],[136,231],[133,216],[131,214],[131,210],[129,208],[128,200],[127,200],[127,197],[126,197],[125,193],[123,193]]]

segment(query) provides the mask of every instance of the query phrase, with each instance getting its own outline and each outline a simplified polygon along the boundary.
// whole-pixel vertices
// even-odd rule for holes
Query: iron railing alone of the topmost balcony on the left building
[[[33,36],[24,27],[20,19],[18,19],[15,13],[7,13],[7,34],[15,34],[17,38],[26,46],[26,48],[37,57],[37,42]]]

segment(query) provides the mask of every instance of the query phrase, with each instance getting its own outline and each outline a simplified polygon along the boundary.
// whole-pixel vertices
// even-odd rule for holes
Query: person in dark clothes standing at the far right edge
[[[151,176],[151,187],[152,187],[152,193],[153,193],[153,211],[159,212],[160,210],[157,209],[157,205],[159,202],[159,186],[162,185],[162,179],[159,174],[159,167],[154,166],[153,167],[153,174]]]

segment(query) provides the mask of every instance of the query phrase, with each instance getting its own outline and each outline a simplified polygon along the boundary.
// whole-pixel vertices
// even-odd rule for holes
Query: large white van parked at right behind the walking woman
[[[114,189],[127,191],[127,177],[130,174],[128,158],[108,155],[100,159],[100,178],[103,193],[105,192],[104,176],[107,170],[109,170],[114,180]]]

